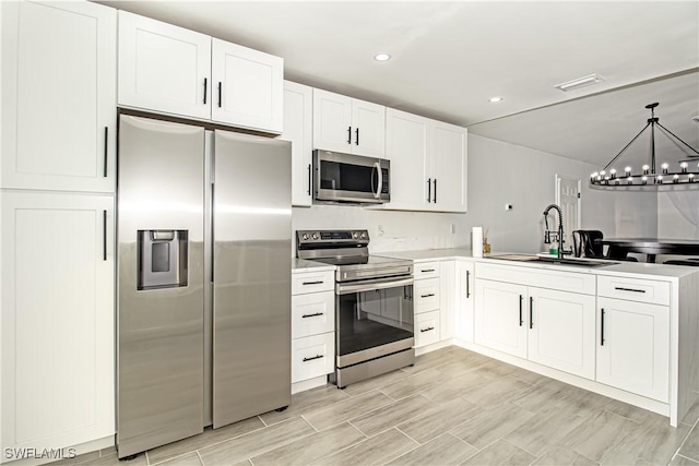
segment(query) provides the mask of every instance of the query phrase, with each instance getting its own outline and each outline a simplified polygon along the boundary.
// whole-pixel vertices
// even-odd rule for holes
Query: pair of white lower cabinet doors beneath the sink
[[[594,379],[595,297],[476,279],[475,342]]]

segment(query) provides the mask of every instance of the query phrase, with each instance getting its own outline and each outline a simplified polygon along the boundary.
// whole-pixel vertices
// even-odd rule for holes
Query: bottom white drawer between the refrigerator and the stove
[[[292,383],[335,370],[335,333],[292,339]]]

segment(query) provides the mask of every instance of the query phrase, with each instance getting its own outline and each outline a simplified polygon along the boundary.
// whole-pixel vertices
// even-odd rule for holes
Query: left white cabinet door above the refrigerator
[[[211,118],[211,37],[119,11],[119,105]]]

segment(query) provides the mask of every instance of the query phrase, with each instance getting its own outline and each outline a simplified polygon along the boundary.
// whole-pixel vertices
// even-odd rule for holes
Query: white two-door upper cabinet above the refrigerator
[[[284,60],[119,11],[119,105],[281,133]]]

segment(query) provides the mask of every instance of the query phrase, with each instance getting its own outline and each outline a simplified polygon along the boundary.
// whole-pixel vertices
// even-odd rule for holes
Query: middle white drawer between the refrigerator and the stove
[[[334,291],[292,296],[292,338],[335,330]]]

